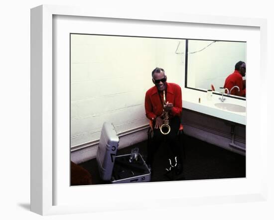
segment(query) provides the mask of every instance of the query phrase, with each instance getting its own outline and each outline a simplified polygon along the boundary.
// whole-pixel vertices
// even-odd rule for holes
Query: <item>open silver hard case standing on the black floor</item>
[[[137,152],[116,156],[119,137],[112,123],[102,127],[96,160],[100,178],[111,183],[149,182],[151,172]]]

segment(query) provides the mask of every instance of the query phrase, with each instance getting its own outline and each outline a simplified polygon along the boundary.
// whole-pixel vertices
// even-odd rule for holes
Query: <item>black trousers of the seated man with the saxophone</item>
[[[147,149],[147,164],[152,165],[154,161],[154,155],[157,152],[160,144],[166,140],[172,153],[177,157],[177,162],[182,163],[181,146],[179,145],[176,136],[180,128],[180,118],[178,116],[169,119],[170,132],[168,134],[162,134],[160,129],[153,129],[153,137],[151,144]],[[153,123],[154,127],[154,123]]]

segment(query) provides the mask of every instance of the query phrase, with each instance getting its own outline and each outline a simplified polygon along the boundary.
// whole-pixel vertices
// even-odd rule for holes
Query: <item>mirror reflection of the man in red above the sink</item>
[[[234,88],[230,94],[245,97],[246,85],[245,81],[243,81],[244,76],[246,76],[246,63],[239,61],[235,64],[234,72],[226,78],[224,88],[227,88],[230,91],[234,86],[238,86],[240,92],[238,92],[237,88]]]

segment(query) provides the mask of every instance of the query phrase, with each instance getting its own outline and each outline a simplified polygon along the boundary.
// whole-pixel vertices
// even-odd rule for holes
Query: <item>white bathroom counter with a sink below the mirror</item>
[[[200,91],[189,91],[182,93],[183,108],[208,114],[214,117],[222,118],[228,121],[233,121],[239,124],[246,125],[246,112],[235,112],[222,110],[215,106],[216,103],[222,103],[219,98],[221,96],[213,94],[212,100],[207,100],[207,93]],[[200,98],[200,103],[199,103]],[[239,100],[230,97],[224,97],[224,103],[236,104],[246,107],[245,100]]]

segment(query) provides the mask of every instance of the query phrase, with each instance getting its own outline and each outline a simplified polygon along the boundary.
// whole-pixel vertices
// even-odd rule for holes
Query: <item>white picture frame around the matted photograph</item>
[[[116,12],[103,11],[96,8],[77,8],[55,5],[40,5],[31,9],[31,211],[40,215],[56,215],[68,213],[103,212],[104,210],[130,210],[141,208],[160,208],[166,207],[165,199],[168,199],[169,206],[184,206],[191,201],[192,205],[206,203],[234,203],[248,201],[266,201],[267,198],[267,138],[266,134],[260,132],[260,155],[258,159],[261,163],[262,173],[259,176],[260,183],[256,185],[250,193],[224,196],[217,193],[212,197],[184,198],[163,196],[163,199],[155,198],[156,203],[134,203],[127,205],[127,201],[121,197],[119,208],[111,207],[107,204],[103,207],[103,202],[69,205],[54,205],[54,131],[53,121],[55,120],[54,110],[54,87],[53,87],[53,16],[71,15],[86,17],[107,17],[136,20],[154,20],[169,22],[187,22],[200,24],[236,25],[252,26],[260,28],[260,86],[262,87],[267,79],[266,73],[266,48],[267,48],[267,23],[265,19],[259,18],[240,18],[226,16],[197,16],[187,14],[172,13],[151,13],[151,12]],[[264,95],[264,96],[263,96]],[[260,114],[259,130],[267,124],[264,110],[267,109],[266,94],[259,94]],[[249,114],[248,114],[249,115]],[[247,129],[248,130],[248,129]],[[249,132],[249,131],[248,131]],[[249,143],[249,142],[247,142]],[[178,187],[176,183],[174,187]],[[192,182],[192,184],[196,184]],[[211,181],[204,181],[203,184],[210,185]],[[67,186],[66,186],[67,187]],[[114,187],[114,186],[113,186]],[[116,189],[121,189],[115,186]],[[125,186],[126,187],[126,186]],[[146,188],[145,184],[142,188]],[[99,189],[99,186],[97,187]],[[128,187],[131,190],[132,187]],[[85,191],[85,188],[82,188]],[[96,198],[96,197],[95,197]]]

